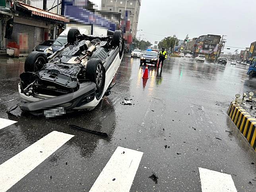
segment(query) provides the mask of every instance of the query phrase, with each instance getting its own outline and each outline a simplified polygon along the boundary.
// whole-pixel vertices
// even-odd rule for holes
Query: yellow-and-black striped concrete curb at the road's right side
[[[230,103],[227,114],[256,151],[256,118],[250,116],[242,107],[237,106],[235,101]]]

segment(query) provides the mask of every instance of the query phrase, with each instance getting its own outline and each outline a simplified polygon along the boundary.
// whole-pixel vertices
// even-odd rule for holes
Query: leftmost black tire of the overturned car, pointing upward
[[[43,52],[32,51],[25,60],[25,72],[38,72],[48,63],[48,59]]]

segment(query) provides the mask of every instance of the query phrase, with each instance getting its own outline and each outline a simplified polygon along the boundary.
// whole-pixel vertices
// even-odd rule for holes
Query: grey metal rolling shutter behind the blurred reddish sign
[[[29,37],[29,52],[33,51],[35,47],[35,27],[30,25],[24,25],[19,23],[14,23],[12,30],[12,39],[6,39],[6,46],[10,41],[17,42],[18,33],[27,33]]]

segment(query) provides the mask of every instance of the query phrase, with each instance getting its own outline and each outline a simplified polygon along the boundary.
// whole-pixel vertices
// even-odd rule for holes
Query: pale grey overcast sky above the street
[[[245,48],[256,41],[255,16],[256,0],[142,0],[138,29],[143,31],[137,37],[144,34],[153,44],[174,34],[178,39],[227,35],[227,46]]]

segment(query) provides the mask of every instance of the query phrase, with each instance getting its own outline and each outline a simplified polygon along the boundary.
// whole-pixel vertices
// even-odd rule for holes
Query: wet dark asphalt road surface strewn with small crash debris
[[[75,136],[8,191],[89,191],[118,146],[144,153],[130,191],[201,191],[198,167],[230,174],[238,191],[256,191],[256,153],[226,114],[236,93],[256,90],[247,66],[169,58],[143,81],[139,59],[124,56],[116,86],[96,109],[45,119],[19,109],[6,114],[19,101],[24,60],[0,59],[0,118],[17,121],[0,130],[0,164],[54,130]],[[122,105],[124,98],[134,105]]]

